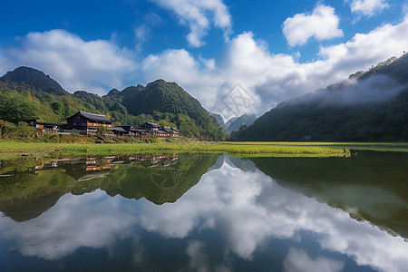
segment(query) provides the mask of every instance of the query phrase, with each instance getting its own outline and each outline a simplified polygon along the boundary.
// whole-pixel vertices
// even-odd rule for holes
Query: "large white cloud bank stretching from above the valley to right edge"
[[[142,74],[146,81],[156,78],[180,83],[186,91],[225,119],[233,113],[221,102],[240,83],[252,95],[257,107],[242,108],[240,114],[262,114],[277,102],[337,83],[359,70],[407,50],[408,16],[399,24],[384,24],[367,34],[355,34],[346,43],[321,47],[320,60],[299,63],[291,54],[271,53],[252,33],[232,39],[208,65],[186,50],[168,50],[145,59]],[[247,111],[247,112],[246,112]],[[232,114],[232,115],[231,115]]]

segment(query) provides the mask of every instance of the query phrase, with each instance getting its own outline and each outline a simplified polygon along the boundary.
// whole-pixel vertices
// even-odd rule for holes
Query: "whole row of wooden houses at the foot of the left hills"
[[[84,136],[97,136],[102,128],[106,137],[130,136],[137,139],[156,138],[177,138],[180,131],[174,127],[160,127],[154,122],[145,122],[140,128],[133,128],[131,125],[112,126],[112,121],[102,114],[90,112],[76,112],[66,119],[66,123],[45,122],[33,119],[27,121],[28,126],[33,126],[44,131],[51,131],[61,134],[80,134]]]

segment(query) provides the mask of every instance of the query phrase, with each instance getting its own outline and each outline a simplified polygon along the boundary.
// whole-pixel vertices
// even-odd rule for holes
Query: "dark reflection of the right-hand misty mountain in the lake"
[[[251,159],[278,184],[408,238],[408,154],[361,152],[347,160]]]

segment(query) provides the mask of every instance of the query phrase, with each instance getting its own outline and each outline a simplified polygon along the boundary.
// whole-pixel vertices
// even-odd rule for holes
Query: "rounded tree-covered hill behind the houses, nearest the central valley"
[[[157,80],[147,84],[146,87],[131,86],[121,92],[113,89],[103,99],[112,103],[111,111],[114,109],[124,114],[120,109],[115,108],[113,101],[116,101],[121,103],[131,115],[139,117],[141,114],[143,116],[148,114],[146,117],[152,116],[154,121],[160,124],[177,125],[181,134],[186,137],[204,140],[225,140],[226,138],[215,118],[210,116],[199,101],[185,92],[177,83]],[[148,120],[145,119],[145,121]]]

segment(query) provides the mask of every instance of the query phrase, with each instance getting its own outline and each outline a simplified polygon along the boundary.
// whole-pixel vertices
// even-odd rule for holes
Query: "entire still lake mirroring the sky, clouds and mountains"
[[[23,157],[0,212],[0,271],[406,271],[408,154]]]

